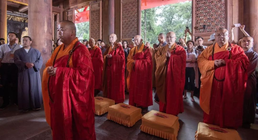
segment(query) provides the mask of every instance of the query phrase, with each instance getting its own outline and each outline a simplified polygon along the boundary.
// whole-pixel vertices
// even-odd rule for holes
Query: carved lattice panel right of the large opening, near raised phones
[[[193,38],[204,38],[203,45],[211,45],[207,40],[219,28],[227,28],[226,0],[193,0]]]

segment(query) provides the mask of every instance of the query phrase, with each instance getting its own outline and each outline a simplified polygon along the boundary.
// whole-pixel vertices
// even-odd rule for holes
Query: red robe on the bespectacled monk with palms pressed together
[[[175,51],[173,47],[175,46]],[[160,49],[166,49],[168,45]],[[167,58],[165,100],[159,102],[159,111],[167,114],[178,115],[184,112],[183,95],[186,69],[186,51],[182,46],[174,44],[169,51],[171,56]],[[162,52],[166,52],[165,50]],[[164,53],[163,55],[166,55]]]

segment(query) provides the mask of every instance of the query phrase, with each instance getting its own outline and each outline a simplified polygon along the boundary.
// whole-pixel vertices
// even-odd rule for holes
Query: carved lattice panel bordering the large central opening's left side
[[[121,40],[141,35],[141,0],[121,0]]]

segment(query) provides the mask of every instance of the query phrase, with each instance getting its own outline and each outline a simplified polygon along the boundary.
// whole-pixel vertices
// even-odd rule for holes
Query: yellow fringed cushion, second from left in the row
[[[121,125],[132,127],[138,120],[141,119],[141,112],[142,110],[140,108],[119,103],[109,106],[107,118]]]

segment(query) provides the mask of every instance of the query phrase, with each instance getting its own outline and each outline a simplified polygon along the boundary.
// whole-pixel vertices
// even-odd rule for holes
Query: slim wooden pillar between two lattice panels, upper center
[[[115,33],[115,0],[108,1],[108,35]]]

